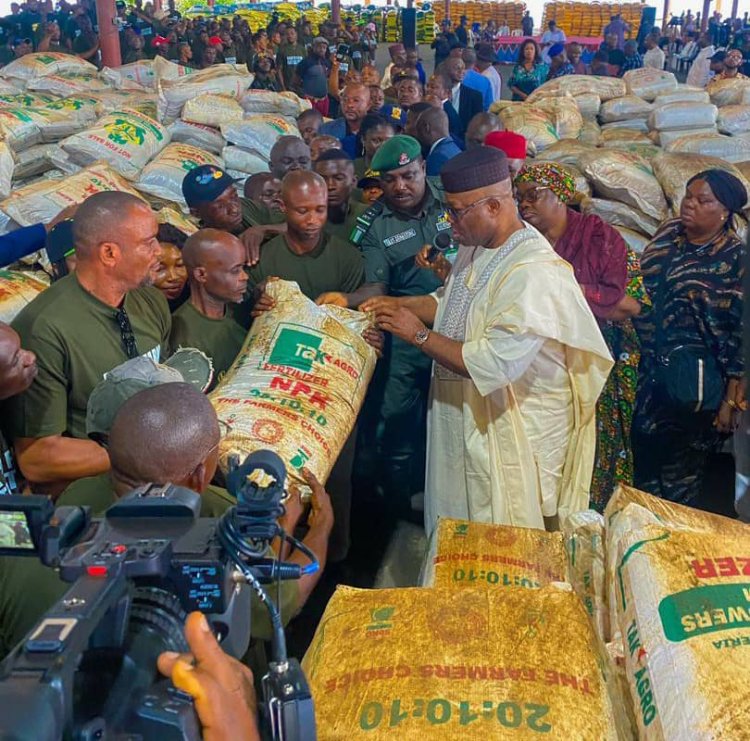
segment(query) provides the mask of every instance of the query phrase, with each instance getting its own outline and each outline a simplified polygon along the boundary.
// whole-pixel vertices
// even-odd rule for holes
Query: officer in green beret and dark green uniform
[[[380,173],[383,197],[357,219],[350,235],[365,258],[366,285],[346,297],[328,295],[329,303],[353,307],[367,294],[420,296],[441,285],[434,271],[415,263],[424,245],[432,245],[442,232],[450,234],[451,228],[445,205],[427,181],[419,142],[404,135],[389,139],[375,153],[372,167]],[[398,512],[408,511],[411,494],[423,482],[432,361],[398,338],[389,340],[382,363],[384,377],[371,384],[366,413],[377,407],[384,487],[389,506]],[[370,431],[368,438],[360,439],[360,448],[372,449],[374,424],[362,418],[360,424]]]

